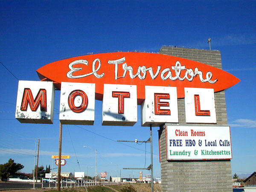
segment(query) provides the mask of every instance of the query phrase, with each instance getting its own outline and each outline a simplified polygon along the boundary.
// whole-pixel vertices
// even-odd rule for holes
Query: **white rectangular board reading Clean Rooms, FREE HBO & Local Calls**
[[[232,159],[230,127],[166,126],[167,160]]]

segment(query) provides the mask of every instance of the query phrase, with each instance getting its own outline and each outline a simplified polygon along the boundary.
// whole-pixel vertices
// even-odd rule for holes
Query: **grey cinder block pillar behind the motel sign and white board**
[[[173,55],[208,64],[219,69],[220,51],[162,47],[160,54]],[[215,93],[217,124],[186,123],[184,99],[178,99],[179,124],[189,126],[227,126],[225,91]],[[166,135],[164,126],[159,130],[162,192],[232,192],[230,160],[166,160]]]

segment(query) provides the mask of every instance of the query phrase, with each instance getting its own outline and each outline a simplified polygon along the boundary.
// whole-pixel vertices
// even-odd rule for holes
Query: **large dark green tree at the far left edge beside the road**
[[[24,166],[20,163],[14,163],[14,160],[9,159],[8,163],[0,164],[1,180],[9,179],[10,175],[15,174],[17,171],[23,168]]]

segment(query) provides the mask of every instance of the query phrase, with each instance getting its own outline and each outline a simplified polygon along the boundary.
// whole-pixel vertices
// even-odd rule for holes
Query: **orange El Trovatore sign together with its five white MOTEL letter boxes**
[[[95,99],[102,125],[178,123],[177,98],[185,98],[186,122],[216,123],[214,93],[239,79],[223,70],[169,55],[116,52],[84,55],[37,70],[41,81],[19,81],[15,118],[52,123],[55,89],[61,90],[62,124],[93,125]]]

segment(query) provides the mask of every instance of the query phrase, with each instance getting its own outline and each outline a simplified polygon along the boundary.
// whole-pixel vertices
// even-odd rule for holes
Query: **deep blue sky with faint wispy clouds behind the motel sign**
[[[0,61],[19,80],[38,81],[45,64],[88,53],[158,52],[163,45],[221,51],[222,66],[241,79],[226,90],[231,126],[232,174],[256,171],[256,1],[0,1]],[[21,124],[15,119],[18,80],[0,64],[0,164],[12,158],[32,172],[35,138],[40,139],[39,165],[51,165],[58,154],[59,98],[56,91],[53,125]],[[93,176],[98,150],[98,174],[113,177],[123,167],[150,164],[145,144],[116,140],[148,140],[149,128],[101,126],[102,102],[96,101],[93,126],[63,126],[63,154],[70,155],[63,172]],[[140,106],[138,108],[140,111]],[[154,177],[160,177],[158,128],[153,128]],[[129,146],[131,147],[129,147]],[[146,151],[150,152],[147,144]],[[80,168],[77,160],[79,161]],[[55,166],[56,167],[56,166]],[[57,169],[56,169],[57,170]],[[143,171],[143,175],[149,175]],[[122,170],[122,177],[139,177]]]

